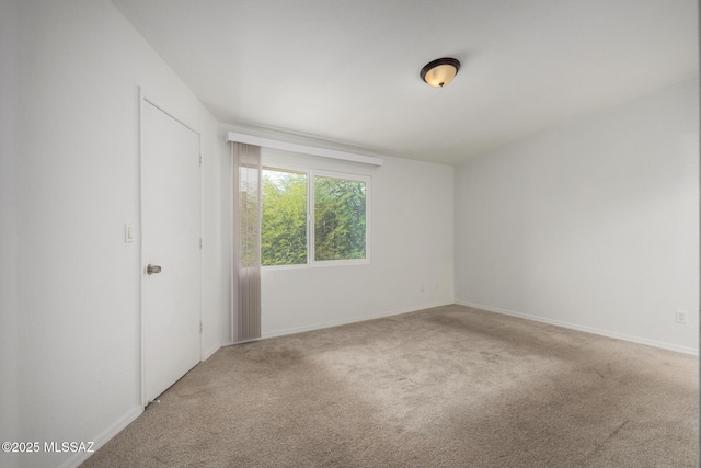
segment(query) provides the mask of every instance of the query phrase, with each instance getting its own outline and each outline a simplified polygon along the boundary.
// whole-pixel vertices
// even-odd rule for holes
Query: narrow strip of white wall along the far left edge
[[[16,5],[0,2],[0,442],[18,433],[18,287],[15,206]],[[19,457],[0,454],[3,467]]]

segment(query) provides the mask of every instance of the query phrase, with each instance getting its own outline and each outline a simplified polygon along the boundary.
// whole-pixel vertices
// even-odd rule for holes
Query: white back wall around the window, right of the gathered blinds
[[[370,263],[264,267],[263,336],[453,303],[451,167],[388,157],[374,168],[265,149],[263,160],[371,176]]]

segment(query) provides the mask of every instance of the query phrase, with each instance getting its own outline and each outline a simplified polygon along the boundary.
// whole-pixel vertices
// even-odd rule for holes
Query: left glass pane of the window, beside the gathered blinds
[[[307,174],[263,169],[261,265],[307,263]]]

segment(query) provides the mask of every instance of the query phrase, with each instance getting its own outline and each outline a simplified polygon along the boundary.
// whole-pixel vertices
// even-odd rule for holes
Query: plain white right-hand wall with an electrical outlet
[[[698,159],[694,77],[464,163],[457,301],[697,352]]]

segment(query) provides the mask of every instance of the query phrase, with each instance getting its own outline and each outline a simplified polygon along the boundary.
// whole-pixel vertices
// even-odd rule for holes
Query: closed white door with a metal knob
[[[141,178],[148,403],[200,361],[202,191],[199,135],[146,100]]]

